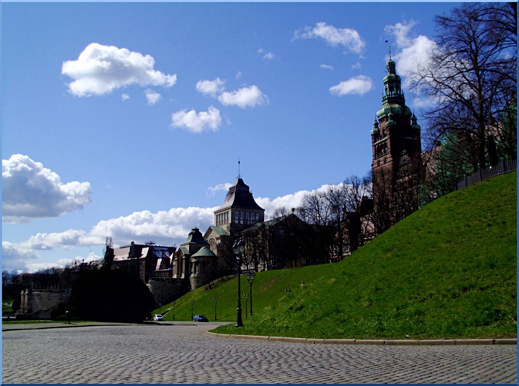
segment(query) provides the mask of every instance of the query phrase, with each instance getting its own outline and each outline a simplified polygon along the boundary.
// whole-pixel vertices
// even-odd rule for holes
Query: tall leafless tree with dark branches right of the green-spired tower
[[[429,145],[456,132],[471,142],[475,171],[486,163],[488,128],[517,93],[516,4],[464,3],[435,22],[438,45],[412,74],[416,92],[435,102],[422,112]]]

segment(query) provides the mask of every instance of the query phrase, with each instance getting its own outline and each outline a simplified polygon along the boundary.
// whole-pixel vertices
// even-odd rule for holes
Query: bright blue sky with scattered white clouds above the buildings
[[[2,264],[182,243],[240,172],[267,216],[371,167],[456,3],[3,3]],[[420,118],[418,116],[418,118]]]

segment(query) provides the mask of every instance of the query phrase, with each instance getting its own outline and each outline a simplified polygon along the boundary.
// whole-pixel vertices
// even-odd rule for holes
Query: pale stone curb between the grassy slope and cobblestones
[[[517,344],[517,338],[511,339],[310,339],[310,338],[289,338],[289,337],[265,337],[255,335],[227,335],[217,334],[216,332],[206,331],[206,335],[230,339],[252,339],[267,340],[269,342],[287,343],[311,343],[311,344],[370,344],[370,345],[405,345],[405,346],[424,346],[424,345],[489,345],[489,344]]]

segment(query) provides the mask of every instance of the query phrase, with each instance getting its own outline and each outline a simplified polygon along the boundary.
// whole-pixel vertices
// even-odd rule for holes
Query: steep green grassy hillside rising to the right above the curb
[[[304,338],[516,337],[516,185],[513,173],[444,196],[339,263],[259,272],[253,316],[243,314],[244,327],[233,323],[215,331]],[[241,288],[245,309],[244,275]],[[235,322],[236,277],[178,299],[175,320],[189,320],[191,300],[194,314],[214,320],[215,297],[218,321]],[[165,320],[172,318],[170,311]]]

